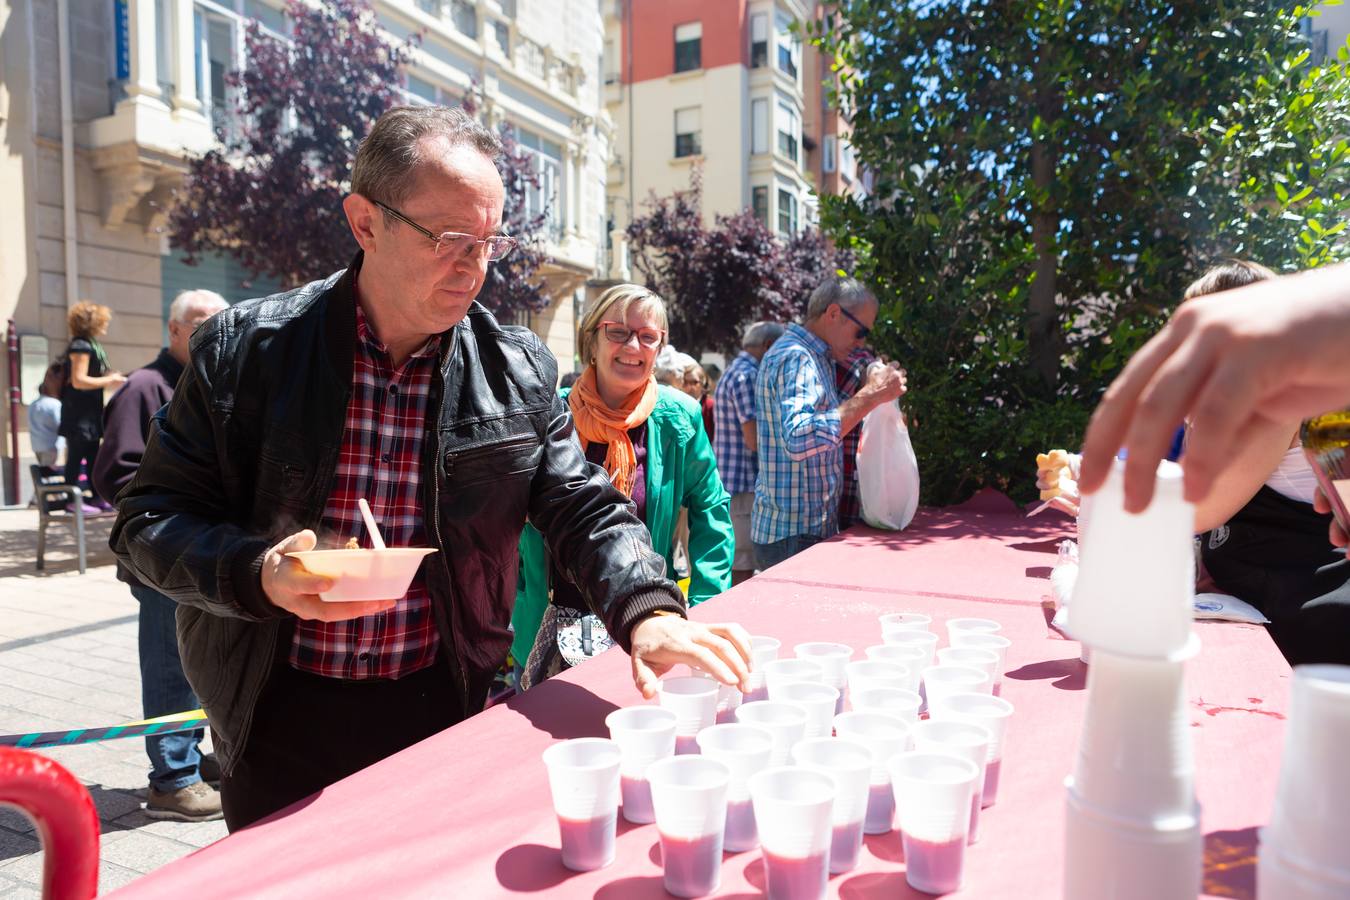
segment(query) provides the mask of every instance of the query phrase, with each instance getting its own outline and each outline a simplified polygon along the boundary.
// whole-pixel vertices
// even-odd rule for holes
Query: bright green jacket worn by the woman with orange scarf
[[[675,525],[680,507],[688,509],[690,606],[717,596],[732,586],[732,498],[722,487],[713,459],[713,443],[703,414],[688,395],[656,389],[656,407],[647,420],[647,530],[652,546],[674,572]],[[567,395],[564,390],[563,397]],[[512,657],[524,665],[548,607],[548,551],[532,525],[520,536],[520,576],[512,613]]]

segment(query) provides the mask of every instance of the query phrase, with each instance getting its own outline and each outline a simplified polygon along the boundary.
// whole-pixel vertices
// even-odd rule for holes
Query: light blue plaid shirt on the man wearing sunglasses
[[[751,540],[838,532],[842,455],[840,397],[829,345],[788,325],[760,362],[755,381],[759,479]]]

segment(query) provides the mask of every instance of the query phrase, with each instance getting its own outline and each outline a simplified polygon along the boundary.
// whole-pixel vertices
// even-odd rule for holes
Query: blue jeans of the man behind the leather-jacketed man
[[[178,658],[178,604],[143,584],[131,595],[140,602],[140,707],[147,719],[188,712],[201,706]],[[201,750],[205,729],[146,738],[150,787],[177,791],[201,781]]]

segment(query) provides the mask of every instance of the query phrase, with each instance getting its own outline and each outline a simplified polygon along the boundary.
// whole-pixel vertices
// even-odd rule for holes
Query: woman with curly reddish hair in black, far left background
[[[127,381],[122,372],[111,371],[108,355],[99,344],[99,339],[108,333],[111,318],[107,306],[89,301],[76,304],[66,316],[70,345],[66,347],[68,378],[61,387],[59,432],[66,439],[66,484],[80,483],[81,460],[93,471],[103,439],[103,391]],[[97,494],[94,503],[100,509],[111,509]]]

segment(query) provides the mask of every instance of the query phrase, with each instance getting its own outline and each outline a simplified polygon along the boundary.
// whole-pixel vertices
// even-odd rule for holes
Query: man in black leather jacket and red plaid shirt
[[[632,505],[586,463],[552,355],[474,302],[509,248],[498,151],[458,109],[385,113],[343,204],[362,252],[196,333],[119,497],[117,559],[180,604],[231,828],[482,708],[510,644],[526,517],[645,696],[678,663],[729,684],[748,672],[744,630],[684,618]],[[402,374],[416,371],[424,399],[408,406]],[[386,402],[421,426],[382,418]],[[377,449],[390,441],[406,467],[393,479],[381,466],[397,451]],[[387,521],[439,552],[404,598],[324,602],[331,580],[286,553],[316,532],[340,545],[355,497],[400,490],[410,502]]]

